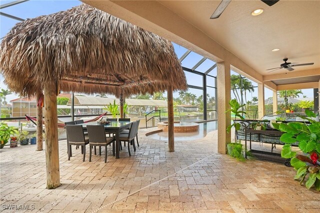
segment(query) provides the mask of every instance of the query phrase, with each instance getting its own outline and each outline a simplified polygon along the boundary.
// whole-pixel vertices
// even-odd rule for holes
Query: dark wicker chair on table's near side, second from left
[[[112,143],[112,154],[114,156],[114,137],[106,137],[103,125],[87,125],[89,135],[89,162],[91,162],[91,146],[99,146],[99,155],[101,155],[101,146],[105,147],[104,162],[106,162],[106,146]],[[95,149],[95,148],[94,148]]]

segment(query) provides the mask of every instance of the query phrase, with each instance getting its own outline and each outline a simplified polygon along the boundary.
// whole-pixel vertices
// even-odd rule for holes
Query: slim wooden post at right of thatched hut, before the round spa
[[[168,86],[167,90],[168,104],[168,148],[169,151],[174,151],[174,115],[173,115],[173,94],[172,86]]]

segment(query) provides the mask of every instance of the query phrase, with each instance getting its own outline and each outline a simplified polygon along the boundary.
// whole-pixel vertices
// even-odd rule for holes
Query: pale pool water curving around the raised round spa
[[[207,132],[213,131],[217,129],[217,121],[209,121],[204,123],[199,123],[199,130],[194,132],[183,132],[178,133],[174,132],[174,140],[195,140],[199,138],[205,137]],[[168,140],[168,132],[158,132],[154,134],[150,134],[147,137],[158,140]]]

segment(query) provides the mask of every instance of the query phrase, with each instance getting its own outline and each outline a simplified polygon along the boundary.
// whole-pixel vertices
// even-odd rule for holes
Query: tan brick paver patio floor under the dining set
[[[17,212],[320,212],[320,193],[293,180],[293,168],[259,160],[244,162],[216,153],[216,131],[203,139],[167,143],[139,131],[128,156],[123,147],[107,162],[82,162],[59,141],[61,186],[45,188],[45,151],[34,145],[0,149],[0,211]],[[133,150],[133,148],[131,148]]]

